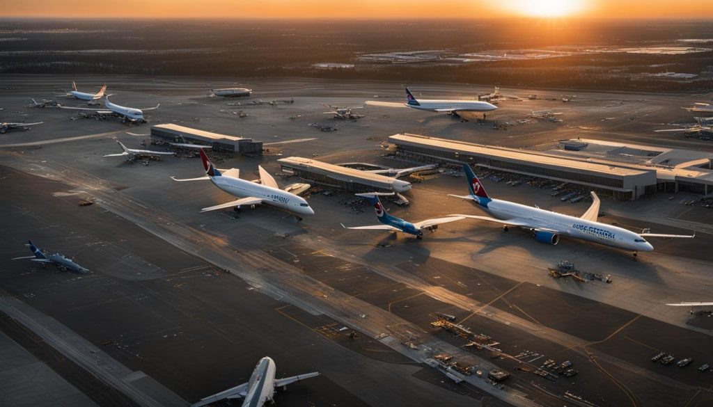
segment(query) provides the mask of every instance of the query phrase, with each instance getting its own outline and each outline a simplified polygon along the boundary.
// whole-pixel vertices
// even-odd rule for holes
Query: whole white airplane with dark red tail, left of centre
[[[237,212],[242,205],[250,205],[251,208],[255,208],[255,205],[265,204],[278,207],[287,212],[292,212],[297,215],[297,220],[302,220],[302,217],[299,217],[299,215],[314,215],[314,210],[312,210],[312,207],[309,207],[307,201],[297,196],[297,193],[309,189],[309,184],[292,184],[282,190],[279,188],[279,185],[277,185],[275,178],[270,175],[270,172],[265,171],[260,165],[257,166],[257,169],[260,171],[260,182],[258,183],[241,180],[240,170],[237,168],[227,170],[215,168],[203,150],[200,150],[200,159],[205,169],[206,175],[204,177],[183,180],[171,177],[171,179],[178,182],[210,180],[216,187],[230,195],[240,198],[220,205],[204,207],[200,212],[225,209],[227,207],[235,207],[235,211]]]

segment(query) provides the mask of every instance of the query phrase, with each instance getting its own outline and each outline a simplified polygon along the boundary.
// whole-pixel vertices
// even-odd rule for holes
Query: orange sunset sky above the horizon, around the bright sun
[[[136,18],[494,18],[528,14],[548,0],[0,0],[0,16]],[[712,19],[713,0],[551,0],[579,2],[575,16]],[[532,7],[532,6],[530,6]]]

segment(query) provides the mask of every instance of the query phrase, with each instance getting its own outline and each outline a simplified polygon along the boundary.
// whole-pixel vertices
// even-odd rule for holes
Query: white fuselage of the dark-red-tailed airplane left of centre
[[[217,177],[210,177],[210,180],[216,187],[235,197],[256,197],[262,199],[262,202],[267,205],[278,207],[287,212],[298,215],[314,215],[314,210],[309,207],[306,200],[279,188],[241,180],[225,173]]]

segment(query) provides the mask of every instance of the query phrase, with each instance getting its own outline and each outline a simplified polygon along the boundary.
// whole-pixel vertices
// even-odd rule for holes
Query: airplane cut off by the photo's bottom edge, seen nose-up
[[[296,381],[319,376],[319,372],[314,371],[276,379],[275,370],[275,361],[265,356],[260,361],[257,361],[255,370],[252,371],[250,380],[247,383],[201,398],[198,403],[194,403],[190,407],[207,406],[221,400],[232,400],[234,398],[242,398],[242,407],[262,407],[268,401],[272,402],[272,397],[275,396],[275,388],[284,388]]]

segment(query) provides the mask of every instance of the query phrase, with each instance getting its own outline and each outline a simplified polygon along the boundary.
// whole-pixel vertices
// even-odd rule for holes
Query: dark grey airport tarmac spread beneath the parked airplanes
[[[251,83],[254,97],[225,101],[205,98],[201,82],[193,79],[118,78],[110,85],[116,102],[137,107],[161,103],[150,123],[137,126],[69,120],[71,114],[63,110],[24,108],[27,97],[47,98],[47,89],[66,81],[71,78],[9,76],[0,81],[0,86],[12,82],[15,88],[0,96],[4,120],[15,120],[9,117],[14,115],[45,121],[29,132],[3,135],[0,144],[70,138],[0,152],[0,165],[5,166],[0,182],[7,191],[0,199],[9,208],[1,235],[5,254],[0,262],[6,272],[0,287],[4,295],[52,316],[181,398],[195,401],[235,386],[257,359],[268,355],[277,363],[278,376],[315,369],[323,373],[279,393],[276,401],[289,405],[419,405],[429,400],[473,405],[476,399],[492,406],[497,405],[493,396],[515,405],[576,405],[564,396],[567,391],[597,406],[713,405],[710,373],[697,370],[713,361],[708,346],[713,324],[687,309],[664,305],[713,296],[707,252],[713,212],[703,207],[679,205],[678,199],[668,199],[670,194],[637,202],[602,200],[602,222],[661,233],[697,230],[692,241],[653,242],[656,251],[635,260],[628,252],[564,238],[557,246],[546,246],[526,232],[504,233],[474,221],[443,225],[421,241],[343,230],[340,222],[376,222],[369,208],[359,213],[339,203],[349,197],[346,193],[312,196],[309,202],[317,215],[301,223],[268,207],[239,214],[200,213],[201,207],[231,197],[209,182],[170,180],[170,175],[202,175],[199,160],[166,158],[144,166],[101,157],[116,153],[109,135],[137,147],[148,136],[125,132],[147,134],[151,123],[181,123],[265,143],[298,140],[270,146],[263,158],[220,163],[240,168],[247,179],[257,178],[258,164],[279,172],[275,160],[280,155],[406,167],[409,163],[381,157],[381,142],[401,131],[513,147],[581,135],[713,150],[702,140],[653,133],[659,123],[692,117],[680,107],[693,96],[578,93],[569,103],[505,101],[488,120],[515,120],[530,110],[563,112],[558,116],[562,123],[538,120],[508,130],[494,130],[491,121],[462,123],[448,115],[383,105],[367,106],[366,118],[353,123],[322,115],[327,110],[323,103],[361,105],[375,95],[401,103],[401,88],[394,83],[256,80]],[[477,93],[472,89],[470,93]],[[465,96],[470,90],[418,87],[429,98]],[[544,97],[563,92],[508,93]],[[227,105],[291,98],[294,103],[275,106]],[[248,115],[237,118],[220,110]],[[339,130],[324,133],[308,126],[317,121],[336,123]],[[586,202],[560,202],[527,185],[486,180],[485,186],[493,196],[572,215],[588,207]],[[446,197],[465,188],[463,178],[437,175],[414,184],[408,207],[386,207],[407,220],[472,213],[466,202]],[[78,207],[76,202],[85,197],[98,205]],[[10,262],[29,254],[23,246],[28,238],[75,257],[92,273],[78,278],[52,267]],[[549,277],[547,268],[565,258],[585,272],[611,274],[612,284]],[[505,355],[491,359],[487,351],[461,348],[461,339],[430,326],[437,311],[501,341]],[[355,342],[346,338],[352,330],[359,332]],[[387,336],[374,339],[380,334]],[[399,344],[409,335],[418,350]],[[421,363],[434,349],[481,369],[501,367],[513,376],[503,389],[475,375],[467,385],[453,385]],[[558,362],[573,361],[580,373],[576,380],[550,382],[517,371],[513,358],[525,349]],[[694,363],[687,368],[653,364],[650,358],[658,351],[677,360],[693,357]]]

